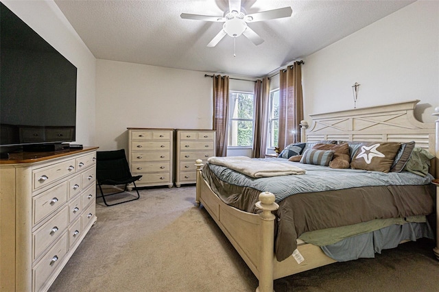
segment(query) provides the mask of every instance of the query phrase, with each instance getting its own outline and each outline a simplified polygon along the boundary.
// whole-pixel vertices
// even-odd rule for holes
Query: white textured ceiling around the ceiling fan
[[[95,58],[176,69],[261,77],[300,60],[414,1],[248,0],[247,14],[290,6],[289,18],[250,23],[265,42],[224,37],[206,47],[222,23],[181,13],[223,16],[227,0],[55,0]]]

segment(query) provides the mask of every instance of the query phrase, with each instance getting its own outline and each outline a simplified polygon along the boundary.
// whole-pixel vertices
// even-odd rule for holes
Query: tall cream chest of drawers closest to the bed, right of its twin
[[[176,186],[195,184],[195,160],[215,156],[215,131],[176,130]]]

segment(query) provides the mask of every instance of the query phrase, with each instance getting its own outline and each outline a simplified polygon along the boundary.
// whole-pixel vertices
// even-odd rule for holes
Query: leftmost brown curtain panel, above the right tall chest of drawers
[[[216,156],[227,155],[228,76],[213,75],[213,130],[216,131]]]

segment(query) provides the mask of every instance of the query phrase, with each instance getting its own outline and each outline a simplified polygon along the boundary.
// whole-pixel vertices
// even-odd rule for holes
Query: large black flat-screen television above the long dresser
[[[76,71],[0,3],[0,146],[75,141]]]

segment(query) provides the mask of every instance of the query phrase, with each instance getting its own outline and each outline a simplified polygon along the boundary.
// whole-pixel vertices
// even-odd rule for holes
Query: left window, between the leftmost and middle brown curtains
[[[228,146],[253,147],[253,93],[230,91]]]

